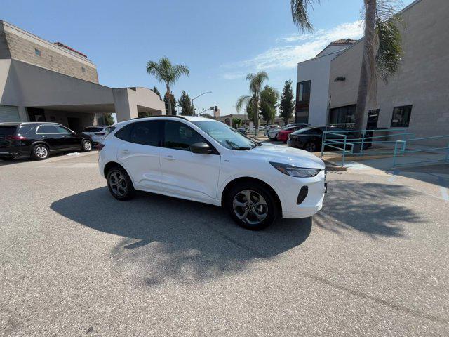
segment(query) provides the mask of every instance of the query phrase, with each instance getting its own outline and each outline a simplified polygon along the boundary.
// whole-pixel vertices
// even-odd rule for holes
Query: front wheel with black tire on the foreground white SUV
[[[246,202],[246,191],[253,192],[250,193],[250,203]],[[261,199],[257,199],[257,194],[259,194],[259,196],[264,199],[266,209],[265,206],[261,205],[262,207],[259,206],[259,209],[253,208],[247,210],[246,207],[251,208],[251,202],[257,204],[257,202],[261,201]],[[241,197],[243,199],[240,199]],[[236,206],[236,209],[234,209],[235,198],[237,202],[243,202],[246,205]],[[279,208],[276,204],[276,200],[274,199],[272,192],[269,191],[267,187],[253,182],[242,183],[232,187],[225,197],[225,206],[229,211],[229,215],[236,222],[236,224],[243,228],[246,228],[247,230],[263,230],[269,225],[272,225],[272,223],[276,221],[276,218],[279,215]],[[247,218],[242,220],[242,216],[246,214],[246,211],[248,211],[248,216]],[[237,213],[239,213],[240,218],[239,216],[237,216]],[[266,216],[262,220],[260,220],[259,218],[257,218],[256,213],[259,216],[266,213]],[[257,220],[260,220],[260,222],[255,223]]]

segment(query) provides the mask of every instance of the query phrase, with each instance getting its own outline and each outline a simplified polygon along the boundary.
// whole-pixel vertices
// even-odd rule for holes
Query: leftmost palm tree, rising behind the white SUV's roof
[[[186,65],[172,65],[166,56],[159,62],[148,61],[147,72],[156,77],[159,82],[166,84],[166,98],[168,102],[168,114],[171,114],[171,91],[170,86],[175,84],[181,75],[189,76],[189,68]]]

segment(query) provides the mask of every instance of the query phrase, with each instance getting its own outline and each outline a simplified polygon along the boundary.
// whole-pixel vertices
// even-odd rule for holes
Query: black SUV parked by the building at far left
[[[92,150],[91,136],[58,123],[0,123],[0,159],[31,156],[47,159],[51,152]]]

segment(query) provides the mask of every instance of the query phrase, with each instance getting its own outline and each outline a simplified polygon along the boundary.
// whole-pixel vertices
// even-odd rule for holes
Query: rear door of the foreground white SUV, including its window
[[[114,136],[123,140],[117,158],[139,190],[161,187],[161,138],[163,121],[138,121],[123,127]]]

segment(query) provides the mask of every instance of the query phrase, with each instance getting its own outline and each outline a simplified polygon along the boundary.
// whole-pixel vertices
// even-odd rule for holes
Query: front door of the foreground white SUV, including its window
[[[187,124],[165,121],[161,187],[177,197],[210,202],[217,197],[220,154],[215,149],[213,154],[192,153],[190,145],[199,142],[208,143]]]

